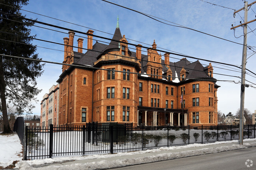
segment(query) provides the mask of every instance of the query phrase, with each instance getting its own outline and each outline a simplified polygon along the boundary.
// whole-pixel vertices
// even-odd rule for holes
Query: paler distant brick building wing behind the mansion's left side
[[[41,127],[59,124],[59,84],[53,85],[41,101]]]

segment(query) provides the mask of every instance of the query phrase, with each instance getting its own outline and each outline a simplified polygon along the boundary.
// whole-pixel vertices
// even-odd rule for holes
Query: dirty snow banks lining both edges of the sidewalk
[[[244,139],[243,141],[255,141],[256,139]],[[235,140],[236,142],[237,140]],[[14,169],[19,170],[93,170],[93,169],[106,169],[106,168],[116,168],[121,166],[128,166],[128,165],[136,165],[142,163],[150,163],[156,161],[163,161],[169,159],[176,159],[181,157],[188,157],[188,156],[195,156],[195,155],[204,155],[204,154],[211,154],[217,152],[223,152],[228,150],[236,150],[247,148],[250,146],[256,146],[256,143],[245,143],[244,145],[239,144],[232,144],[229,146],[219,146],[215,147],[215,144],[224,144],[224,143],[234,143],[234,141],[223,141],[223,142],[215,142],[215,143],[207,143],[207,144],[189,144],[184,146],[173,146],[169,148],[159,148],[159,149],[152,149],[152,150],[145,150],[145,151],[137,151],[137,152],[125,152],[125,153],[117,153],[117,154],[102,154],[102,155],[88,155],[88,156],[75,156],[75,157],[54,157],[53,159],[39,159],[39,160],[32,160],[32,161],[20,161]],[[150,152],[159,152],[164,150],[175,150],[175,149],[182,149],[182,148],[194,148],[197,146],[209,146],[209,148],[204,149],[197,149],[195,150],[187,150],[184,152],[173,152],[173,153],[166,153],[166,154],[156,154],[153,156],[143,156],[145,153]],[[99,158],[108,158],[108,157],[119,157],[123,155],[135,155],[141,154],[141,157],[134,157],[129,159],[116,159],[114,161],[98,161],[98,162],[91,162],[91,163],[76,163],[72,165],[65,165],[65,166],[44,166],[35,168],[35,165],[44,165],[49,163],[60,163],[64,161],[78,161],[78,160],[85,160],[85,159],[99,159]]]

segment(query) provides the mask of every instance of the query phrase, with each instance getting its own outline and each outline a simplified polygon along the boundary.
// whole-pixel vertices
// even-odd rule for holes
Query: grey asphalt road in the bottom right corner
[[[245,162],[247,160],[251,161]],[[250,166],[252,165],[252,166]],[[256,147],[206,154],[156,163],[116,168],[118,170],[255,170]],[[115,169],[115,170],[116,170]]]

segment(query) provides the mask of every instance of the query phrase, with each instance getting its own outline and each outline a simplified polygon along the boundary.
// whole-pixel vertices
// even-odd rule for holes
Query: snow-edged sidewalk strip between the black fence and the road
[[[189,157],[195,155],[211,154],[229,150],[237,150],[242,148],[248,148],[256,146],[255,139],[245,139],[243,145],[237,144],[237,141],[227,141],[210,143],[210,144],[190,144],[186,146],[174,146],[170,148],[159,148],[154,150],[126,152],[118,154],[106,154],[106,155],[89,155],[80,156],[82,160],[62,161],[58,163],[33,165],[32,161],[28,161],[28,165],[20,166],[19,169],[29,170],[28,166],[32,169],[108,169],[117,168],[122,166],[137,165],[143,163],[150,163],[156,161],[164,161],[170,159],[177,159],[182,157]],[[22,161],[25,162],[25,161]],[[20,164],[22,165],[22,162]],[[24,163],[25,164],[25,163]],[[15,168],[16,169],[16,168]]]

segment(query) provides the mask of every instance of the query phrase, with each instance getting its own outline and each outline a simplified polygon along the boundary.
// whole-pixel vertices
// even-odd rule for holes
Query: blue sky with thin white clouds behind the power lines
[[[212,34],[221,38],[225,38],[231,41],[235,41],[243,44],[243,37],[235,38],[234,31],[230,30],[231,24],[234,26],[239,25],[242,21],[240,16],[243,18],[244,12],[240,11],[234,18],[232,9],[240,9],[244,6],[241,0],[211,0],[213,4],[222,5],[232,9],[226,9],[216,5],[211,5],[200,0],[109,0],[111,2],[147,13],[149,15],[157,16],[165,20],[197,29],[208,34]],[[207,0],[206,0],[207,1]],[[249,1],[250,4],[253,1]],[[39,13],[46,16],[51,16],[53,18],[58,18],[60,20],[65,20],[81,26],[89,27],[95,31],[94,35],[99,35],[103,37],[112,38],[115,31],[117,16],[119,16],[119,26],[122,35],[125,35],[130,43],[141,44],[139,42],[144,42],[146,44],[152,44],[154,39],[156,41],[158,48],[165,48],[171,51],[182,53],[197,58],[204,58],[208,60],[214,60],[218,62],[225,62],[237,66],[241,66],[242,58],[242,47],[239,44],[234,44],[232,42],[227,42],[220,40],[218,38],[210,37],[202,33],[198,33],[192,30],[168,26],[161,24],[155,20],[152,20],[146,16],[139,13],[135,13],[128,9],[117,7],[115,5],[103,2],[101,0],[31,0],[27,6],[22,7],[22,9]],[[255,19],[256,4],[252,5],[248,13],[248,21]],[[22,11],[23,15],[28,18],[37,18],[37,20],[42,22],[47,22],[50,24],[67,27],[70,29],[75,29],[83,32],[87,32],[88,28],[75,26],[73,24],[68,24],[65,22],[57,21],[54,19],[46,18],[45,16],[35,15],[33,13],[28,13]],[[243,21],[242,21],[243,22]],[[171,24],[171,23],[169,23]],[[37,26],[42,26],[36,24]],[[45,26],[43,26],[45,27]],[[253,30],[256,28],[256,22],[250,23],[249,27]],[[48,41],[63,43],[63,38],[68,37],[68,34],[57,33],[55,31],[50,31],[38,27],[31,28],[31,34],[37,35],[37,38],[44,39]],[[52,28],[55,29],[55,28]],[[59,29],[55,29],[59,30]],[[59,30],[63,31],[63,30]],[[106,33],[102,33],[104,31]],[[248,28],[248,32],[250,29]],[[68,31],[63,31],[68,32]],[[254,31],[256,34],[256,31]],[[247,44],[250,46],[256,46],[256,35],[254,33],[249,33],[247,35]],[[79,34],[76,34],[79,36]],[[239,27],[235,31],[236,37],[243,35],[243,28]],[[83,36],[83,35],[82,35]],[[79,37],[74,38],[74,46],[77,46],[76,40]],[[83,46],[87,47],[87,40],[84,38]],[[98,38],[95,38],[100,40]],[[132,40],[137,40],[135,42]],[[106,40],[103,40],[106,41]],[[109,41],[106,41],[109,42]],[[95,43],[95,41],[94,41]],[[58,50],[64,50],[64,46],[45,43],[41,41],[34,40],[33,44],[37,46],[42,46],[46,48],[54,48]],[[148,46],[143,44],[143,46]],[[129,48],[133,48],[129,46]],[[255,48],[256,49],[256,48]],[[132,50],[132,49],[131,49]],[[77,51],[77,49],[74,49]],[[132,50],[133,51],[133,50]],[[85,52],[83,50],[83,52]],[[37,48],[37,53],[39,57],[43,60],[63,62],[62,51],[55,51],[43,48]],[[252,51],[248,50],[247,56],[249,57]],[[144,54],[146,54],[144,52]],[[171,62],[177,62],[182,57],[175,55],[170,55]],[[195,62],[195,59],[187,58],[191,62]],[[200,60],[201,64],[209,64]],[[247,69],[256,73],[256,68],[254,64],[256,62],[256,55],[252,55],[247,60]],[[212,63],[213,73],[221,73],[226,75],[234,75],[241,77],[241,72],[234,68],[227,68],[226,66],[221,66]],[[220,69],[220,68],[225,69]],[[238,72],[229,71],[226,69],[233,69]],[[38,88],[42,89],[42,92],[37,96],[39,102],[35,103],[35,109],[33,113],[40,114],[40,101],[43,99],[43,95],[48,93],[50,87],[56,83],[59,75],[61,74],[61,66],[54,64],[45,64],[44,73],[41,77],[37,79]],[[246,79],[250,82],[256,84],[256,76],[252,77],[246,75]],[[223,75],[214,75],[217,80],[234,80],[238,82],[240,79],[236,77],[228,77]],[[246,82],[247,84],[251,84]],[[240,108],[240,84],[235,84],[233,82],[217,82],[221,86],[217,91],[218,97],[218,110],[227,114],[228,112],[236,113],[237,109]],[[256,85],[253,85],[256,87]],[[256,89],[249,87],[245,89],[245,108],[248,108],[250,112],[254,113],[256,110],[255,106],[255,94]]]

